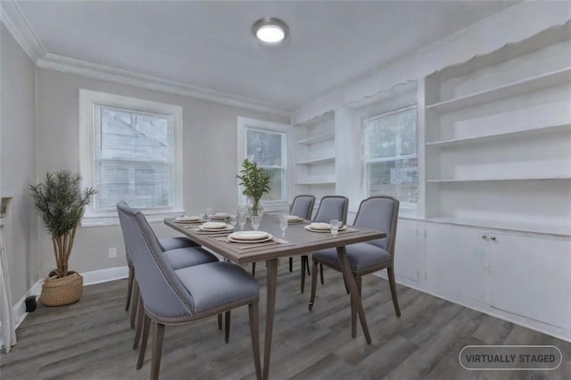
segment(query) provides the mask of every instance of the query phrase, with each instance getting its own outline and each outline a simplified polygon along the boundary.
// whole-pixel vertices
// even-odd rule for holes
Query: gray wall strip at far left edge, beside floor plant
[[[38,277],[36,213],[28,185],[36,182],[36,67],[0,23],[0,194],[13,195],[4,226],[12,302]]]

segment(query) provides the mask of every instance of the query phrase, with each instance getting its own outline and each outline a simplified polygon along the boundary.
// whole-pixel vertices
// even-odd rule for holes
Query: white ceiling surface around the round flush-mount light
[[[22,1],[48,54],[295,109],[512,1]],[[252,37],[284,20],[285,45]]]

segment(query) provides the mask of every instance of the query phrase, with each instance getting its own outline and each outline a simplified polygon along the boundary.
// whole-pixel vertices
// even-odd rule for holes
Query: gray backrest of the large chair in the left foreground
[[[159,318],[192,316],[195,312],[192,295],[162,255],[145,216],[125,202],[117,203],[117,212],[145,309]]]

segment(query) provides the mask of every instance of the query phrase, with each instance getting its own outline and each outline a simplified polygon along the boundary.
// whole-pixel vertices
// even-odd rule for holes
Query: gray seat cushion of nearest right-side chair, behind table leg
[[[391,254],[377,245],[357,243],[347,245],[345,249],[353,272],[374,268],[391,261]],[[313,252],[313,258],[317,261],[330,263],[335,267],[340,266],[336,248]]]

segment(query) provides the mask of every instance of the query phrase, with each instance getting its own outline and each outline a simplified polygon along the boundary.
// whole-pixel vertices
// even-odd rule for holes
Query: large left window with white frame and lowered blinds
[[[82,225],[114,222],[120,201],[151,219],[181,212],[181,108],[87,90],[79,97],[81,174],[97,190]]]

